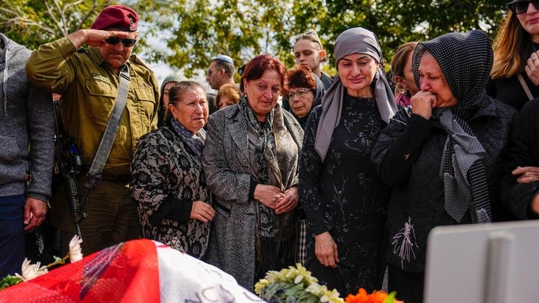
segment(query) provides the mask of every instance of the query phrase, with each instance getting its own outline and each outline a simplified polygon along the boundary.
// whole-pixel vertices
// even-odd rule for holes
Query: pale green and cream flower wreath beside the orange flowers
[[[318,284],[300,263],[280,272],[267,272],[255,284],[255,293],[269,303],[344,303],[337,290]]]

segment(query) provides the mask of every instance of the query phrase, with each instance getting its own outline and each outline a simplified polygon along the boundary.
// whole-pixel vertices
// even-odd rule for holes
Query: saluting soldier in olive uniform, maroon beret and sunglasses
[[[29,80],[36,86],[62,94],[59,107],[64,128],[75,139],[83,160],[77,178],[80,192],[85,192],[83,185],[91,183],[88,180],[95,180],[87,175],[96,176],[88,171],[94,171],[92,163],[98,148],[102,150],[102,138],[109,133],[116,135],[108,157],[97,157],[96,162],[101,158],[106,161],[97,188],[88,190],[87,199],[82,201],[82,211],[87,213],[80,223],[85,254],[139,237],[137,206],[129,192],[130,163],[139,138],[157,125],[159,87],[153,71],[131,54],[138,22],[132,8],[108,6],[91,29],[41,45],[26,66]],[[82,48],[84,44],[88,47]],[[120,85],[126,78],[127,85]],[[118,129],[106,131],[109,118],[113,121],[118,116],[111,113],[120,100],[118,104],[125,101],[125,106],[117,106]],[[65,253],[76,227],[63,185],[56,189],[51,213]]]

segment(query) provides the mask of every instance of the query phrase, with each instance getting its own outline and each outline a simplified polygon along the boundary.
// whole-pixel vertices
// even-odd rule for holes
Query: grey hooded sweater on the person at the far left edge
[[[0,197],[22,195],[47,201],[54,158],[52,96],[28,79],[31,51],[0,33]]]

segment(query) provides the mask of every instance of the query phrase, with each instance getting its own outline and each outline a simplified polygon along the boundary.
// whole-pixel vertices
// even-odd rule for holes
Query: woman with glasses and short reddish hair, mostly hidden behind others
[[[322,81],[314,75],[309,66],[300,65],[286,73],[288,79],[288,103],[294,118],[303,129],[312,108],[322,103],[325,88]]]

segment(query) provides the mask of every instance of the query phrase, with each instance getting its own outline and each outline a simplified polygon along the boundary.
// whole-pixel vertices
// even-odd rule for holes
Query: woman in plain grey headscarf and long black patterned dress
[[[381,289],[389,190],[370,152],[397,106],[381,71],[377,37],[344,31],[335,41],[338,76],[305,128],[300,203],[307,215],[307,268],[339,293]]]

